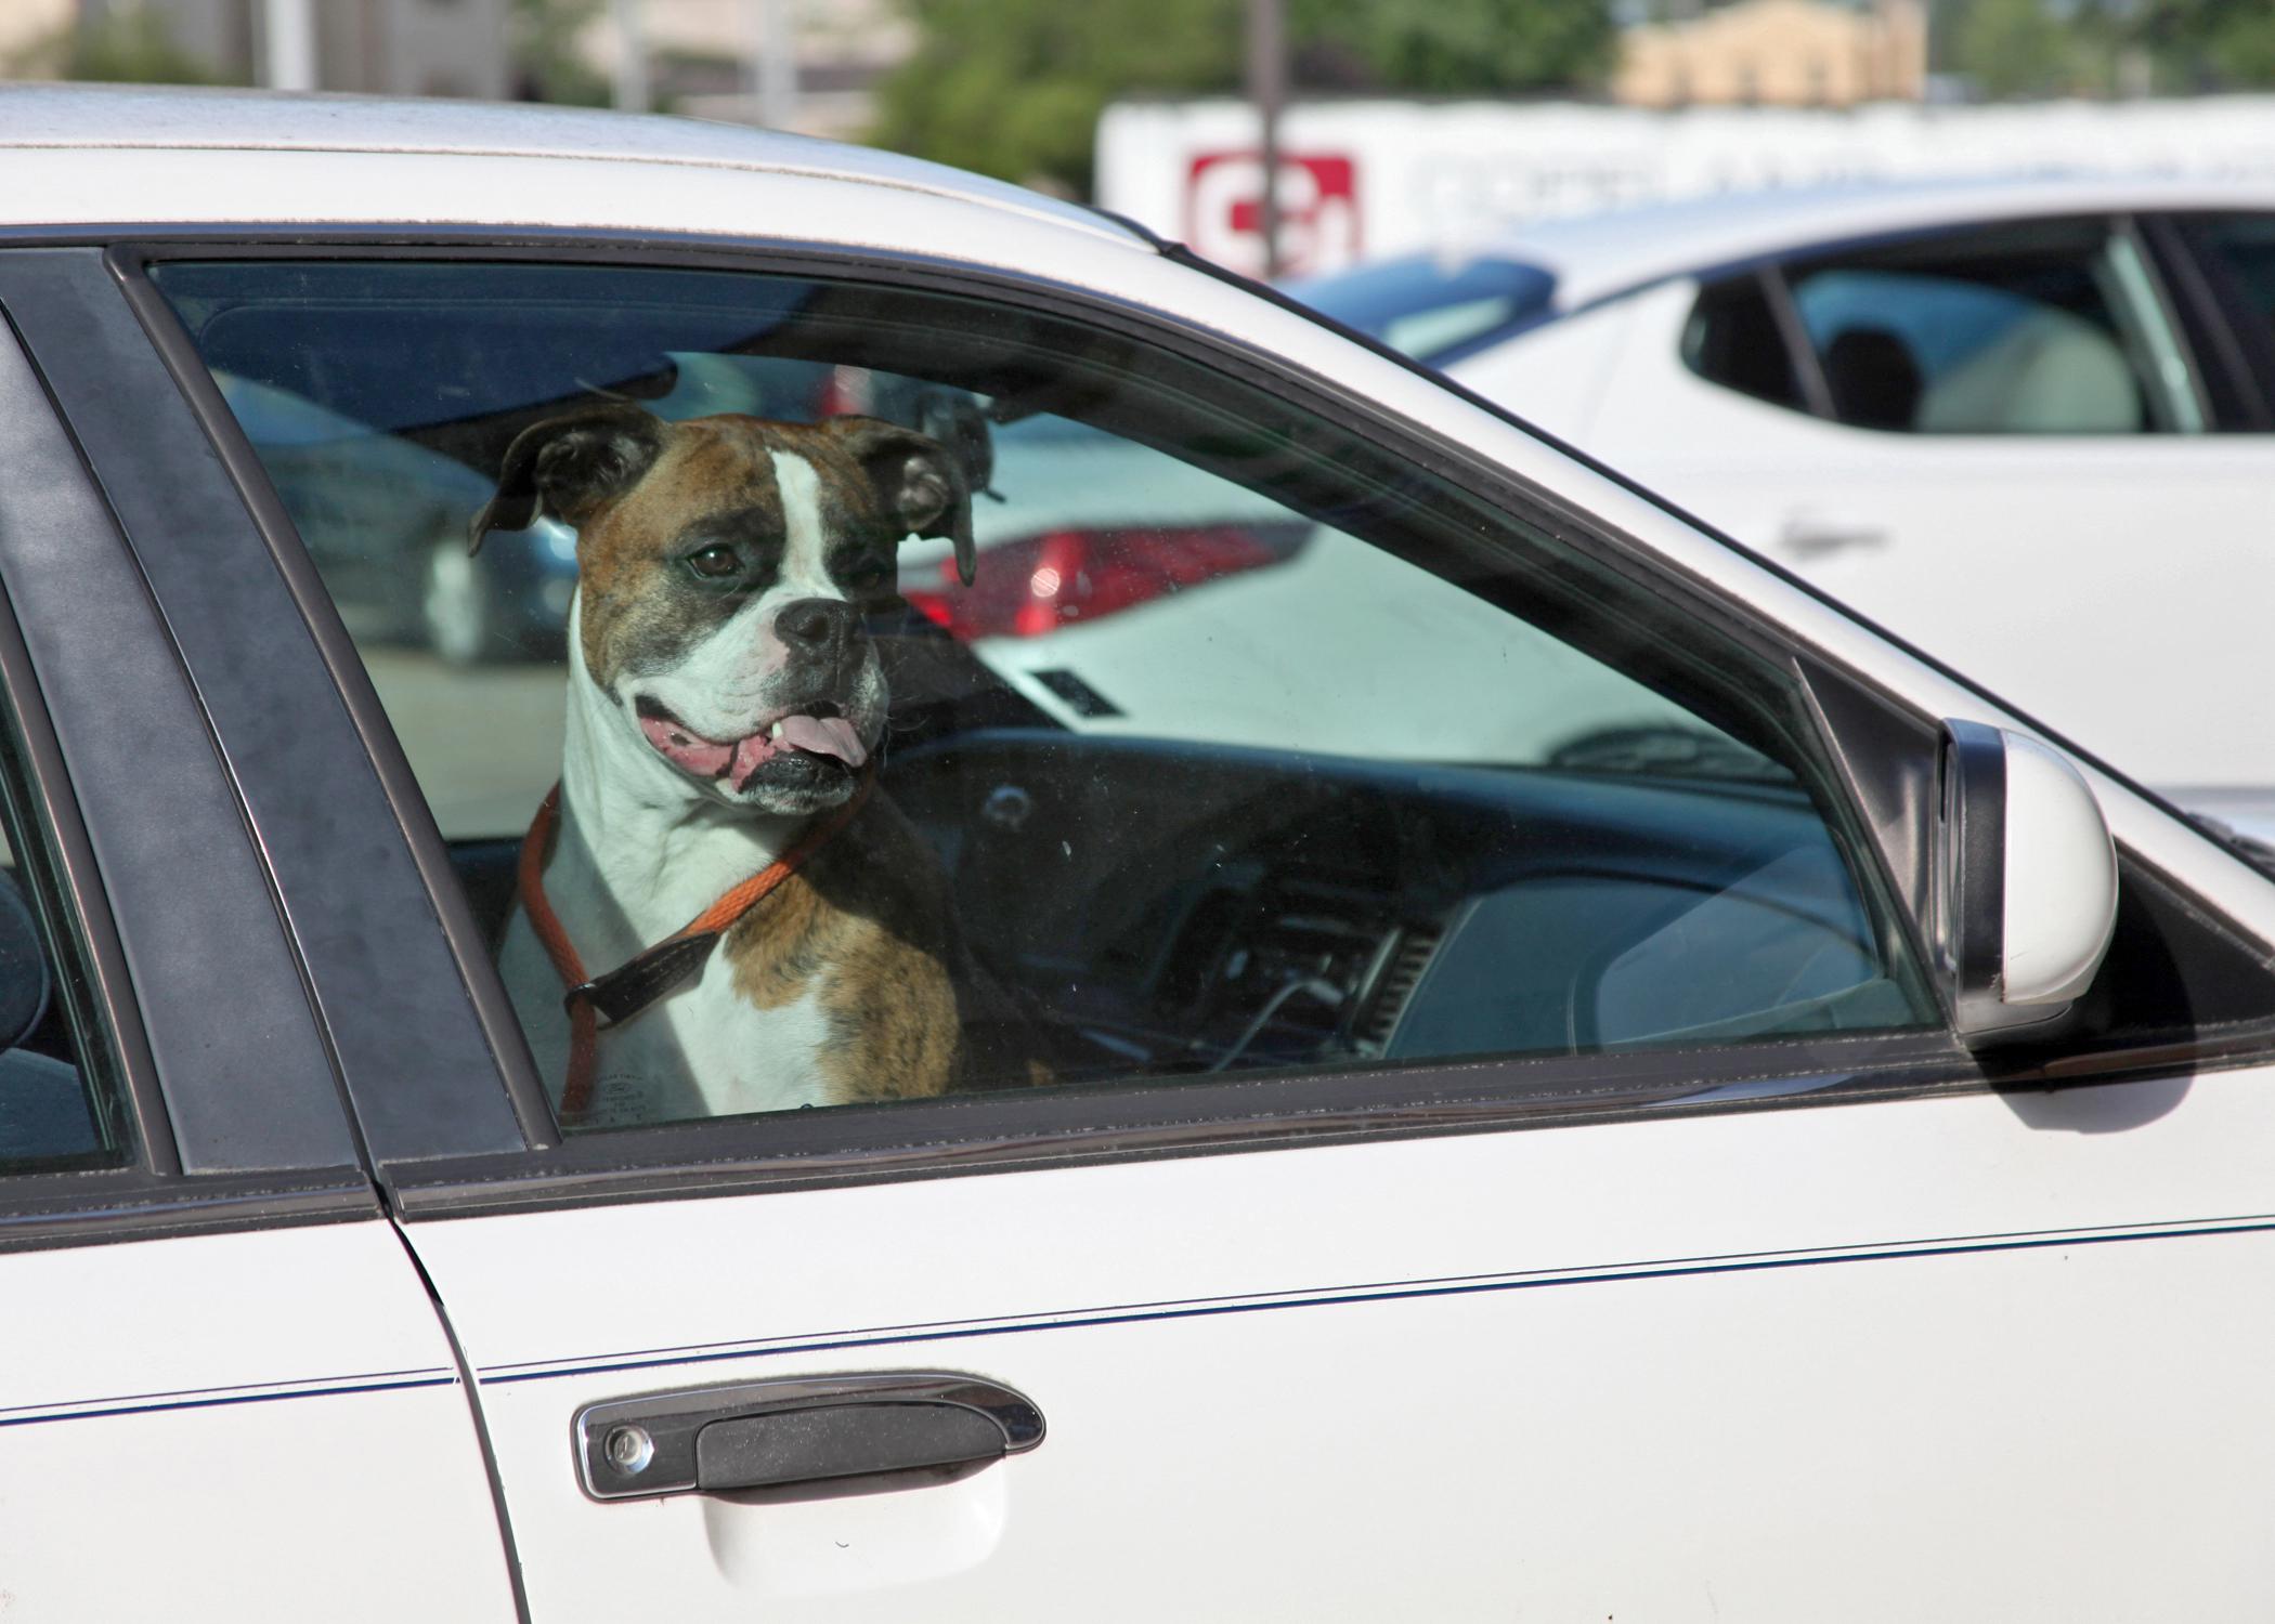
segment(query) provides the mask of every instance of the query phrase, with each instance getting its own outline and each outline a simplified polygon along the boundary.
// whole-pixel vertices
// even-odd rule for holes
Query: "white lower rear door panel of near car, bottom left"
[[[389,1224],[11,1253],[0,1301],[11,1624],[514,1617],[466,1390]]]

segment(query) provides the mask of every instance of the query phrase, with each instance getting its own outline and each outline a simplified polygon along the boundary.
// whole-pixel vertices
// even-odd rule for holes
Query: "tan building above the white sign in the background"
[[[1738,0],[1620,34],[1613,100],[1631,107],[1856,107],[1927,89],[1920,0]]]

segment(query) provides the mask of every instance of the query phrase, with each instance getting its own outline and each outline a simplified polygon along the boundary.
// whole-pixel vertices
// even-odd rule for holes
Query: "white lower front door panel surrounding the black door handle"
[[[2270,1110],[2232,1074],[414,1235],[537,1617],[2234,1617],[2275,1594]],[[869,1369],[1051,1431],[874,1494],[576,1485],[582,1403]]]

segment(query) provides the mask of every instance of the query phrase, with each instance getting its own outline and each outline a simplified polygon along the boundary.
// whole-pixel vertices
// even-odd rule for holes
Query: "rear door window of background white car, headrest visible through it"
[[[1943,234],[1788,266],[1843,423],[1922,434],[2200,430],[2129,237],[2100,223]]]

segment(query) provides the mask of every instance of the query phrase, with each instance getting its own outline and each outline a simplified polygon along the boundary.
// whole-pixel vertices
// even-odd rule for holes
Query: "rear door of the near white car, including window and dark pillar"
[[[11,332],[68,328],[71,268],[125,314],[100,255],[9,250]],[[91,478],[52,400],[132,439],[111,362],[0,334],[0,1613],[510,1619],[469,1390],[118,521],[166,512],[152,575],[275,573],[198,439],[202,519]]]

